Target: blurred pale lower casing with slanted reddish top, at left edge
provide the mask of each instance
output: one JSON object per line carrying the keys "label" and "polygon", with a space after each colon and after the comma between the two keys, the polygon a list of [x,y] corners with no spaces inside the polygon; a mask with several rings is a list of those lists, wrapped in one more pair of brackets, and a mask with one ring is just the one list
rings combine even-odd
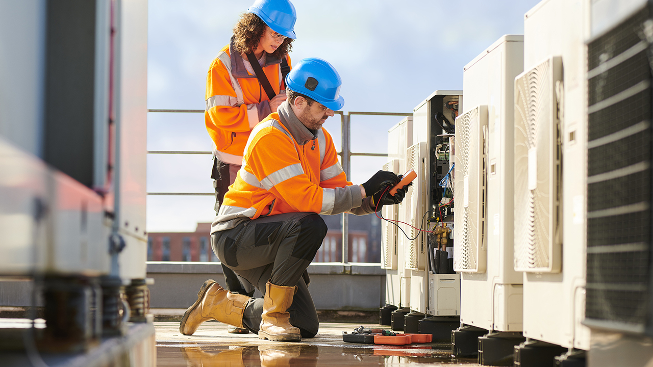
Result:
{"label": "blurred pale lower casing with slanted reddish top, at left edge", "polygon": [[2,137],[0,171],[3,274],[108,271],[108,231],[97,193]]}

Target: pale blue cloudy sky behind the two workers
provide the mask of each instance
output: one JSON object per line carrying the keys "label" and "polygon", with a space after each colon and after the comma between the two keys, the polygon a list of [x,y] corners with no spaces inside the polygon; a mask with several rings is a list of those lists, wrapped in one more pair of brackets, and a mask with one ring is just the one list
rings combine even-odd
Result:
{"label": "pale blue cloudy sky behind the two workers", "polygon": [[[148,108],[203,109],[208,67],[253,0],[149,0]],[[522,34],[536,0],[295,0],[291,59],[321,57],[343,80],[343,111],[412,112],[436,89],[462,89],[462,67],[505,34]],[[352,118],[354,152],[387,151],[401,118]],[[340,119],[325,127],[340,139]],[[202,114],[148,114],[148,150],[210,150]],[[340,150],[339,142],[336,148]],[[385,158],[358,158],[362,183]],[[210,192],[208,155],[150,155],[148,191]],[[148,231],[194,231],[212,197],[148,197]]]}

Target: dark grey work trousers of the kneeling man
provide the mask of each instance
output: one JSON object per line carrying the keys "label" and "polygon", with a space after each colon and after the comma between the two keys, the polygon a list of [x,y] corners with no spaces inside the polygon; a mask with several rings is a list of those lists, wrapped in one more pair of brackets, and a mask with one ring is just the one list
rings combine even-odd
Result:
{"label": "dark grey work trousers of the kneeling man", "polygon": [[[232,229],[215,232],[211,246],[218,259],[265,295],[268,281],[283,287],[297,286],[288,308],[290,323],[302,338],[317,334],[319,319],[304,274],[327,236],[327,225],[315,213],[287,213],[244,221]],[[307,274],[308,275],[308,274]],[[263,299],[247,303],[243,323],[259,332]]]}

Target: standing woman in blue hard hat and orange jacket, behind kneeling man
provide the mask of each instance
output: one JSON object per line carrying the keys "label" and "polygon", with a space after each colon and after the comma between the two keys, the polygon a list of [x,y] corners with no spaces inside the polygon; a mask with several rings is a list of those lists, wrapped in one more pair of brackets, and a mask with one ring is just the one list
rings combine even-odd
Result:
{"label": "standing woman in blue hard hat and orange jacket, behind kneeling man", "polygon": [[[251,129],[276,112],[286,100],[288,53],[295,40],[296,12],[288,0],[256,0],[234,26],[229,44],[220,50],[206,76],[204,122],[214,143],[211,178],[215,212],[236,180]],[[253,286],[241,283],[223,266],[227,289],[251,296]],[[247,332],[230,328],[229,332]]]}

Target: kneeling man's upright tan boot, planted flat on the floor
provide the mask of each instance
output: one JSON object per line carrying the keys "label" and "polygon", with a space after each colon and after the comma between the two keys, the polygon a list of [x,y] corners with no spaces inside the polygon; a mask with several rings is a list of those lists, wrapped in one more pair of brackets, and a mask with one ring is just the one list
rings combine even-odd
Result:
{"label": "kneeling man's upright tan boot, planted flat on the floor", "polygon": [[268,281],[265,289],[259,339],[300,342],[302,334],[298,328],[290,325],[290,313],[286,311],[293,304],[297,287],[281,287]]}

